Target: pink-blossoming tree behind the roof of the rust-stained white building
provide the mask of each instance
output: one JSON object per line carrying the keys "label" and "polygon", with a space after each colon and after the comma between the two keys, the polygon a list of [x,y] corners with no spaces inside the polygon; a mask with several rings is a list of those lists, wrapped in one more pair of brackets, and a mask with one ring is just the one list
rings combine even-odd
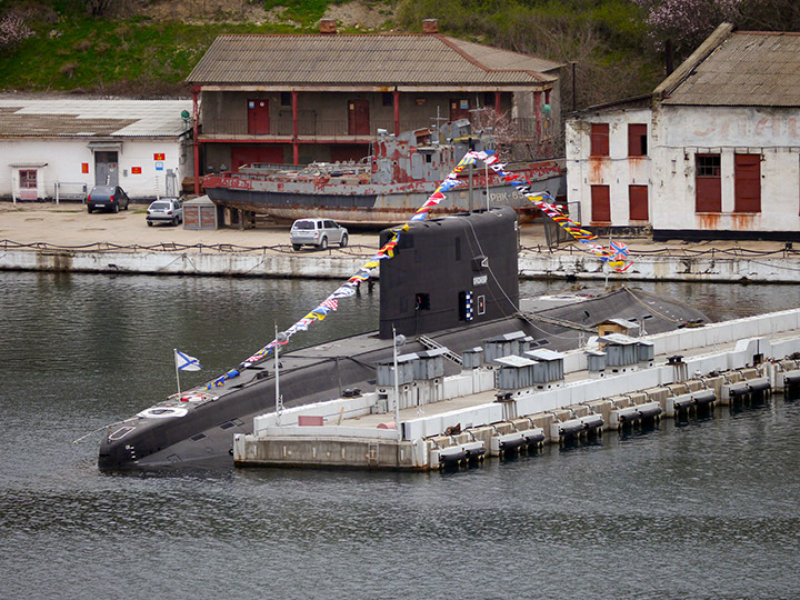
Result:
{"label": "pink-blossoming tree behind the roof of the rust-stained white building", "polygon": [[650,38],[663,50],[667,71],[673,56],[691,53],[723,21],[738,22],[746,0],[633,0],[647,11]]}

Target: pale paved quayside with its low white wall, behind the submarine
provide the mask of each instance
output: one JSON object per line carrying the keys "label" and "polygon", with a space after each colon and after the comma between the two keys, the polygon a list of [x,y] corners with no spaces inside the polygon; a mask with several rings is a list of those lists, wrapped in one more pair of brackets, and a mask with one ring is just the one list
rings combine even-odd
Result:
{"label": "pale paved quayside with its low white wall, behind the submarine", "polygon": [[[350,277],[378,249],[376,232],[350,246],[294,252],[287,227],[213,231],[147,227],[144,209],[87,214],[80,204],[0,203],[0,270],[237,277]],[[626,240],[633,264],[609,272],[579,242],[548,248],[541,224],[522,226],[520,277],[728,282],[800,281],[800,251],[782,242],[656,243]]]}

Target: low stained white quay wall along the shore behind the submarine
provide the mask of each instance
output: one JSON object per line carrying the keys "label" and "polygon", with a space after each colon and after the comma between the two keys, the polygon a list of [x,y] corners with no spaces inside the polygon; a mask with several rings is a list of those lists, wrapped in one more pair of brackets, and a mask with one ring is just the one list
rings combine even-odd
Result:
{"label": "low stained white quay wall along the shore behind the submarine", "polygon": [[[293,254],[267,250],[227,253],[6,248],[0,249],[0,270],[347,279],[369,258],[332,251]],[[634,257],[624,273],[616,273],[586,253],[522,251],[519,256],[523,279],[797,283],[798,271],[800,260],[788,257]]]}

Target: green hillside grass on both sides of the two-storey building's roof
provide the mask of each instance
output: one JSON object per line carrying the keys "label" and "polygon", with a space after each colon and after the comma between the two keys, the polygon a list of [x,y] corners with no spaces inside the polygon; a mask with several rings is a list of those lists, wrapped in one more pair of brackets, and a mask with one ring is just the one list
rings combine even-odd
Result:
{"label": "green hillside grass on both sides of the two-storey building's roof", "polygon": [[[283,8],[280,23],[264,26],[92,18],[81,0],[42,2],[41,10],[26,12],[36,36],[12,52],[0,49],[0,90],[186,96],[186,78],[217,36],[313,33],[326,9],[341,1],[253,0],[266,9]],[[640,93],[652,89],[660,77],[658,57],[646,52],[642,14],[631,0],[391,2],[381,7],[391,9],[387,19],[398,30],[420,31],[423,18],[438,18],[442,33],[560,62],[580,60],[581,68],[597,73],[593,77],[601,83],[609,78],[604,69],[624,81],[616,90],[597,87],[597,97],[587,96],[586,103]],[[26,6],[26,0],[0,0],[0,14]],[[341,24],[339,29],[353,31]]]}

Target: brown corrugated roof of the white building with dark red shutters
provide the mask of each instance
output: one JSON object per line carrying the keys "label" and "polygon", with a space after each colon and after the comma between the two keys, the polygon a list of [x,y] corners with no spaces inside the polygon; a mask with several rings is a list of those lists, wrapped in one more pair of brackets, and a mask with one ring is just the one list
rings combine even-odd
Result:
{"label": "brown corrugated roof of the white building with dark red shutters", "polygon": [[663,103],[800,107],[800,34],[734,31]]}

